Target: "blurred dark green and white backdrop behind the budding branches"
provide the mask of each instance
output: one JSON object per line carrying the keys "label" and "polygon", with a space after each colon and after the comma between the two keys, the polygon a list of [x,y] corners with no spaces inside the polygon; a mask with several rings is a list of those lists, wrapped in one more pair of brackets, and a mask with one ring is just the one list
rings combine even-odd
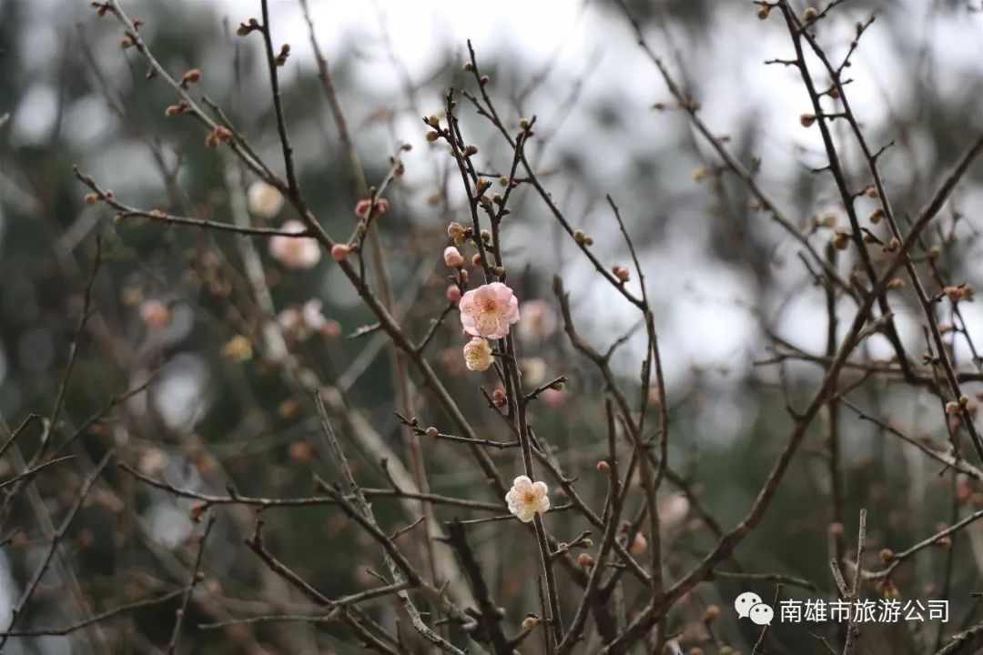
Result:
{"label": "blurred dark green and white backdrop behind the budding branches", "polygon": [[[616,7],[571,1],[531,8],[509,2],[489,17],[439,3],[419,3],[412,12],[402,3],[385,1],[313,4],[318,33],[326,29],[322,41],[369,180],[384,177],[388,157],[401,142],[413,146],[403,155],[406,174],[386,194],[392,206],[379,222],[409,333],[423,335],[444,305],[444,229],[464,215],[453,162],[444,146],[425,140],[420,118],[440,111],[449,85],[468,86],[461,63],[465,39],[471,37],[492,76],[492,95],[508,108],[505,120],[517,124],[520,117],[537,115],[532,159],[567,216],[594,236],[599,256],[611,263],[625,263],[627,252],[605,194],[621,206],[658,307],[672,465],[724,527],[741,519],[791,425],[777,367],[755,362],[771,356],[770,334],[822,355],[827,329],[823,290],[812,284],[798,259],[801,246],[749,204],[750,196],[737,181],[714,175],[717,160],[698,142],[685,115],[672,108]],[[765,59],[788,56],[790,45],[775,25],[779,22],[759,22],[750,3],[628,4],[670,68],[700,99],[704,119],[728,136],[728,146],[741,161],[760,161],[760,183],[824,250],[833,232],[810,226],[818,217],[837,214],[838,196],[828,176],[809,170],[824,165],[825,154],[818,137],[798,125],[799,114],[809,106],[797,74],[763,65]],[[172,75],[200,68],[204,92],[280,170],[259,37],[234,33],[239,23],[258,15],[258,3],[188,0],[125,6],[145,21],[142,34]],[[295,3],[271,6],[278,40],[292,45],[283,69],[283,99],[301,187],[324,228],[345,235],[355,226],[358,198],[305,28]],[[978,111],[983,74],[977,65],[983,26],[971,9],[956,0],[849,2],[822,30],[824,42],[841,56],[854,23],[878,12],[875,27],[861,41],[847,88],[856,93],[871,142],[879,147],[895,141],[883,164],[901,216],[917,211],[968,136],[983,127]],[[419,23],[402,22],[414,12]],[[342,18],[334,21],[336,16]],[[429,40],[429,31],[414,33],[420,25],[429,25],[439,38]],[[221,152],[205,147],[199,125],[185,117],[165,118],[164,108],[175,101],[173,91],[145,79],[144,61],[133,50],[121,51],[121,37],[118,25],[98,21],[81,0],[0,0],[0,115],[10,113],[0,128],[0,416],[13,427],[27,413],[46,414],[52,407],[70,357],[96,235],[102,236],[104,261],[95,279],[95,313],[79,345],[57,433],[71,435],[114,396],[152,380],[145,394],[87,429],[77,462],[37,479],[37,498],[45,499],[40,506],[22,498],[5,519],[5,532],[15,525],[23,532],[4,547],[0,624],[6,624],[36,564],[43,542],[38,511],[62,516],[90,469],[87,459],[97,460],[110,444],[123,461],[178,486],[221,494],[228,484],[247,495],[310,495],[312,470],[335,477],[320,450],[313,406],[297,384],[298,376],[313,372],[336,395],[335,408],[358,412],[409,467],[407,434],[392,413],[396,405],[385,340],[378,332],[352,337],[371,326],[373,318],[328,257],[310,271],[291,271],[273,260],[261,241],[252,242],[277,310],[317,299],[324,315],[340,327],[337,337],[316,335],[291,343],[296,366],[284,366],[262,352],[261,311],[244,263],[248,247],[238,237],[137,220],[116,225],[107,208],[82,202],[86,190],[75,179],[73,164],[128,204],[226,222],[234,220],[230,194],[241,194],[252,182]],[[419,42],[420,48],[400,49],[407,41]],[[665,108],[653,108],[654,103]],[[466,135],[479,144],[490,171],[502,171],[510,161],[507,144],[463,99],[458,109]],[[861,180],[855,148],[845,131],[838,137],[847,169]],[[976,239],[980,220],[974,213],[980,177],[979,172],[969,176],[931,235],[931,243],[944,249],[950,284],[978,283],[983,276]],[[560,239],[542,201],[520,191],[517,202],[505,230],[506,260],[515,271],[511,279],[524,306],[543,299],[541,311],[548,315],[539,332],[520,332],[521,354],[533,359],[523,365],[531,377],[545,368],[544,380],[560,374],[570,380],[561,394],[536,407],[535,424],[557,449],[565,470],[579,478],[581,493],[600,503],[605,482],[595,464],[606,449],[604,384],[561,330],[548,329],[549,315],[555,318],[557,310],[550,277],[564,277],[578,327],[598,348],[629,335],[614,362],[631,388],[643,335],[625,303],[613,298],[572,245]],[[284,209],[268,223],[277,226],[289,214]],[[838,262],[843,272],[851,264],[848,256]],[[142,317],[141,307],[150,300],[167,306],[165,325],[147,325]],[[920,354],[923,319],[917,300],[904,290],[892,300],[908,352]],[[852,307],[840,305],[840,320],[846,323]],[[525,322],[531,314],[523,311]],[[973,304],[964,311],[968,330],[978,334],[983,313]],[[429,351],[434,365],[451,381],[455,400],[479,435],[506,440],[500,419],[477,389],[481,384],[491,392],[496,380],[464,370],[456,321],[455,311],[438,330]],[[252,356],[228,356],[226,347],[237,335],[253,342]],[[861,356],[874,359],[890,355],[882,337],[869,340],[864,350]],[[960,364],[973,366],[964,343],[956,340],[954,354]],[[792,402],[801,403],[822,368],[790,361],[785,372]],[[844,373],[843,384],[855,375]],[[443,428],[427,390],[418,391],[421,423]],[[948,438],[938,399],[924,390],[872,380],[851,399],[910,434],[940,444]],[[338,419],[360,481],[385,486],[382,465],[372,453],[360,452],[359,440],[351,438],[362,428],[342,415]],[[936,531],[938,523],[978,509],[974,503],[983,496],[975,484],[938,474],[936,464],[848,409],[841,408],[838,421],[845,524],[831,527],[825,451],[830,426],[824,415],[761,528],[738,551],[745,571],[804,577],[829,595],[836,535],[845,530],[847,548],[852,547],[860,508],[870,513],[868,549],[873,553],[883,547],[901,550]],[[19,444],[25,458],[39,432]],[[463,453],[431,443],[425,449],[434,491],[488,500],[486,485]],[[492,452],[492,457],[505,477],[518,470],[514,452]],[[12,456],[0,466],[6,476],[19,464]],[[79,594],[98,611],[184,583],[182,573],[194,552],[188,543],[191,503],[175,501],[118,470],[110,470],[96,488],[101,491],[74,521],[64,546],[65,562],[78,577],[78,593],[65,596],[59,591],[63,572],[51,573],[48,593],[38,593],[32,602],[28,625],[71,622],[78,616]],[[673,498],[678,499],[667,496],[666,502]],[[632,502],[641,507],[640,497]],[[397,503],[375,505],[390,529],[409,522]],[[194,628],[223,613],[247,614],[260,599],[274,598],[281,608],[300,602],[242,547],[253,513],[228,508],[219,514],[203,567],[210,600],[193,603],[186,622],[188,641],[194,644],[190,650],[357,652],[345,645],[350,640],[344,628],[334,626],[317,631],[289,625]],[[451,519],[457,513],[440,509],[437,514]],[[688,571],[715,543],[688,503],[678,514],[667,527],[664,546],[672,576]],[[337,511],[277,510],[263,519],[270,548],[326,595],[373,583],[365,569],[379,570],[377,549]],[[572,537],[583,528],[563,521],[556,515],[550,529]],[[532,543],[509,523],[479,525],[470,534],[488,566],[496,598],[517,623],[537,606],[535,589],[524,584],[536,574]],[[969,592],[978,588],[981,566],[983,532],[969,530],[954,539],[951,550],[921,554],[895,579],[902,598],[951,601],[952,623],[941,628],[948,634],[976,616]],[[944,579],[950,580],[946,588]],[[698,631],[693,624],[699,623],[703,607],[720,604],[727,613],[715,627],[717,636],[749,652],[756,632],[734,621],[726,609],[744,588],[730,581],[702,585],[680,603],[670,627]],[[768,585],[752,588],[763,597],[774,591]],[[160,646],[169,637],[172,609],[135,613],[132,623],[123,622],[119,631],[102,637],[84,631],[71,639],[15,640],[8,647],[12,653],[98,652],[102,638],[116,644],[112,652],[151,652],[151,643]],[[372,611],[393,612],[383,606]],[[774,628],[774,652],[786,653],[821,652],[807,629],[836,633],[830,627]],[[870,652],[928,652],[940,630],[937,624],[920,632],[909,628],[886,629]]]}

